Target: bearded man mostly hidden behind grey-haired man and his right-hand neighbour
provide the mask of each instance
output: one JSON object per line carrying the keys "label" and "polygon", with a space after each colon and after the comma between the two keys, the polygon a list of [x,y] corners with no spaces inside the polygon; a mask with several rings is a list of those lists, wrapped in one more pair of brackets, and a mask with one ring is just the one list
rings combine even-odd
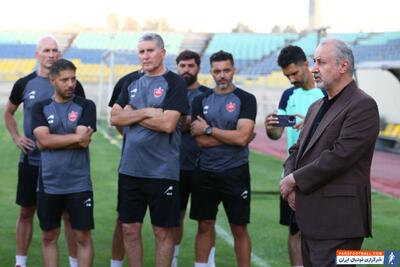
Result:
{"label": "bearded man mostly hidden behind grey-haired man and his right-hand neighbour", "polygon": [[[188,88],[188,101],[191,109],[193,99],[196,96],[203,94],[209,90],[208,87],[200,85],[197,81],[197,75],[200,71],[200,56],[196,52],[185,50],[181,52],[176,58],[176,65],[178,74],[185,80]],[[190,122],[191,116],[185,116],[182,127],[182,142],[180,147],[180,178],[179,178],[179,192],[180,192],[180,218],[179,226],[174,229],[174,258],[172,266],[178,266],[178,255],[180,243],[183,237],[183,220],[185,218],[185,212],[189,195],[192,192],[192,176],[193,170],[197,165],[198,156],[200,149],[196,144],[196,141],[190,134]],[[208,257],[209,266],[215,266],[214,254],[215,254],[215,231],[213,238],[213,247]]]}

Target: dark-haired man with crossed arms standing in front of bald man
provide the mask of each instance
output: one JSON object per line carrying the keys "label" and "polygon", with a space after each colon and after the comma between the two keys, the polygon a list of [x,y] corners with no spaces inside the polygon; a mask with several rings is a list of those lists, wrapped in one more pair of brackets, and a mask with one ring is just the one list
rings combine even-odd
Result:
{"label": "dark-haired man with crossed arms standing in front of bald man", "polygon": [[54,97],[34,105],[32,129],[42,150],[38,179],[38,217],[45,266],[58,266],[61,216],[69,214],[77,243],[78,266],[93,264],[94,228],[89,143],[96,130],[96,106],[76,96],[76,67],[66,59],[50,68]]}

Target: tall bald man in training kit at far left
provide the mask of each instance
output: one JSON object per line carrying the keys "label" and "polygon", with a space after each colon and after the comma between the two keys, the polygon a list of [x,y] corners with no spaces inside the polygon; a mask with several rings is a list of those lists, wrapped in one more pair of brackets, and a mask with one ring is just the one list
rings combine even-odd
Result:
{"label": "tall bald man in training kit at far left", "polygon": [[[12,88],[9,101],[4,111],[4,122],[8,131],[21,150],[18,165],[18,186],[16,203],[21,207],[16,226],[16,266],[25,267],[33,233],[33,217],[36,210],[36,185],[39,171],[40,151],[35,145],[32,134],[32,108],[39,101],[54,95],[54,88],[49,80],[50,67],[61,57],[57,40],[45,36],[38,41],[35,57],[38,69],[17,80]],[[82,85],[77,81],[75,94],[85,97]],[[24,135],[18,132],[15,112],[19,105],[24,105]],[[65,236],[68,241],[71,267],[77,267],[76,245],[71,232],[68,214],[64,213]]]}

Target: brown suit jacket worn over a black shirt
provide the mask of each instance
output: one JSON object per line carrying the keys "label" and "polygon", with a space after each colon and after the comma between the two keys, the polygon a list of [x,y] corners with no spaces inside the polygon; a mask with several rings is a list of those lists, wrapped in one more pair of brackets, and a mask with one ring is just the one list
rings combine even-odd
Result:
{"label": "brown suit jacket worn over a black shirt", "polygon": [[296,221],[310,238],[371,236],[370,169],[378,108],[354,81],[343,90],[303,148],[323,100],[310,107],[285,162],[285,175],[293,172],[297,184]]}

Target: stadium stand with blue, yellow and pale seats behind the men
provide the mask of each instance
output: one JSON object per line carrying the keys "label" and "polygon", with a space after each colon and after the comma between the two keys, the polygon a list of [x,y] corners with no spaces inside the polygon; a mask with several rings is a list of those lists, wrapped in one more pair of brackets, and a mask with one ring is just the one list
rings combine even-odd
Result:
{"label": "stadium stand with blue, yellow and pale seats behind the men", "polygon": [[[34,51],[37,40],[48,34],[51,33],[0,31],[0,79],[15,81],[30,73],[35,68]],[[84,83],[112,83],[112,80],[140,68],[135,51],[142,32],[83,31],[54,34],[60,41],[64,57],[73,60],[78,66],[79,79]],[[231,52],[235,58],[235,83],[249,89],[287,86],[287,80],[276,64],[280,49],[288,44],[299,45],[312,62],[311,57],[318,42],[316,32],[160,34],[164,37],[167,49],[167,68],[175,70],[175,58],[180,51],[198,51],[203,62],[199,79],[203,84],[213,86],[209,75],[209,56],[223,49]],[[375,66],[376,63],[379,66],[382,62],[400,62],[400,32],[329,33],[323,38],[339,38],[348,42],[353,47],[358,66],[364,63],[368,66]],[[397,65],[393,63],[390,66]],[[391,72],[395,73],[393,70]]]}

